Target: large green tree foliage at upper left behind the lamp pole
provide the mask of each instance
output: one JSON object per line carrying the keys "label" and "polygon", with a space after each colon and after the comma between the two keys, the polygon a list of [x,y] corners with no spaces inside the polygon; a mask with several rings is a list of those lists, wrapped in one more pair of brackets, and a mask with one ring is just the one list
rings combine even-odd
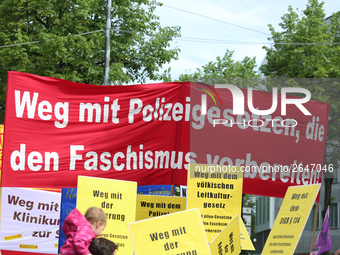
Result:
{"label": "large green tree foliage at upper left behind the lamp pole", "polygon": [[[43,42],[0,48],[0,122],[7,71],[103,84],[106,4],[106,0],[1,1],[0,46]],[[179,49],[168,46],[180,35],[179,27],[160,26],[153,14],[160,5],[155,0],[112,1],[109,76],[114,84],[157,79],[159,68],[177,59]]]}

